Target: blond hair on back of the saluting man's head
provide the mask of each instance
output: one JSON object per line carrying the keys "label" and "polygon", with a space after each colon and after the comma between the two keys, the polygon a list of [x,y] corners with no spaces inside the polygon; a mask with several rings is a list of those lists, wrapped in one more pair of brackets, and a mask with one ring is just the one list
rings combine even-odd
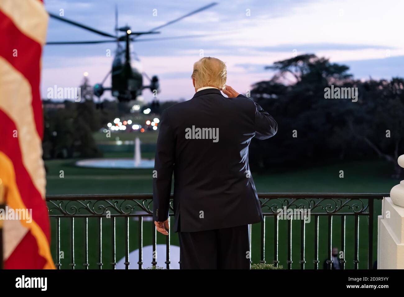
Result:
{"label": "blond hair on back of the saluting man's head", "polygon": [[204,57],[194,63],[194,72],[191,78],[195,80],[195,88],[214,86],[222,90],[227,80],[226,64],[212,57]]}

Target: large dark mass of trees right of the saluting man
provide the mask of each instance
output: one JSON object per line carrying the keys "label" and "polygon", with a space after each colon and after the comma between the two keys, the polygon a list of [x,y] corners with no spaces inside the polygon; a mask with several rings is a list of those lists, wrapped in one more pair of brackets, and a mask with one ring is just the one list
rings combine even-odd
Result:
{"label": "large dark mass of trees right of the saluting man", "polygon": [[[253,168],[379,156],[393,164],[395,176],[403,173],[397,164],[404,137],[402,78],[354,80],[346,65],[311,54],[266,69],[276,72],[254,84],[251,96],[274,116],[279,130],[271,141],[252,140]],[[324,89],[331,85],[357,88],[358,101],[327,99]]]}

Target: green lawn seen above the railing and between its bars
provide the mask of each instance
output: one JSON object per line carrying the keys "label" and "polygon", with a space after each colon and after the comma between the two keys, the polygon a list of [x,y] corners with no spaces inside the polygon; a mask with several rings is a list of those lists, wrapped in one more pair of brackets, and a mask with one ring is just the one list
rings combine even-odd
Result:
{"label": "green lawn seen above the railing and between its bars", "polygon": [[[152,153],[148,153],[152,156]],[[129,152],[106,153],[106,157],[132,157]],[[149,157],[148,156],[148,157]],[[143,157],[143,154],[142,154]],[[130,193],[151,193],[152,192],[152,169],[89,169],[74,166],[76,160],[50,160],[46,161],[48,169],[47,174],[47,194],[130,194]],[[344,178],[339,178],[339,171],[344,171]],[[60,178],[60,171],[63,171],[64,177]],[[383,161],[361,161],[344,162],[328,166],[319,166],[309,169],[293,170],[282,173],[254,174],[253,177],[258,192],[352,192],[352,193],[371,193],[371,192],[389,192],[398,180],[391,179],[391,168],[389,164]],[[375,215],[381,211],[381,203],[375,204]],[[173,221],[172,221],[173,223]],[[61,219],[61,250],[64,252],[64,259],[61,260],[61,268],[70,268],[70,219]],[[98,268],[96,263],[98,257],[98,221],[97,219],[88,220],[88,250],[90,269]],[[346,219],[346,268],[353,268],[353,217]],[[360,248],[359,248],[359,268],[367,266],[367,218],[360,217]],[[322,268],[322,261],[327,257],[327,236],[328,221],[326,217],[320,217],[319,230],[319,267]],[[274,219],[266,219],[266,240],[265,240],[265,259],[271,263],[274,254]],[[55,219],[51,219],[52,244],[51,250],[55,257]],[[313,268],[314,264],[314,220],[305,224],[305,242],[306,242],[306,268]],[[138,248],[138,222],[129,220],[129,251]],[[151,244],[151,232],[153,225],[151,222],[143,223],[143,246]],[[341,247],[341,219],[339,216],[333,217],[332,221],[332,242],[333,246]],[[377,238],[377,224],[374,225],[374,238]],[[103,268],[110,268],[112,260],[111,251],[111,220],[102,219],[103,231]],[[252,262],[258,263],[260,259],[260,225],[255,224],[252,227]],[[83,268],[81,265],[85,262],[84,251],[84,219],[75,219],[75,262],[78,263],[76,269]],[[300,268],[300,222],[292,222],[292,268]],[[157,243],[164,244],[165,237],[161,234],[157,236]],[[171,244],[179,245],[177,234],[172,234]],[[116,260],[118,261],[125,255],[124,242],[124,219],[116,219]],[[374,259],[377,255],[377,246],[374,244]],[[279,223],[279,241],[278,258],[280,264],[287,268],[287,221]],[[144,255],[143,262],[150,263],[151,256],[147,258]],[[165,257],[158,259],[160,266],[164,266]],[[131,265],[136,265],[132,263]]]}

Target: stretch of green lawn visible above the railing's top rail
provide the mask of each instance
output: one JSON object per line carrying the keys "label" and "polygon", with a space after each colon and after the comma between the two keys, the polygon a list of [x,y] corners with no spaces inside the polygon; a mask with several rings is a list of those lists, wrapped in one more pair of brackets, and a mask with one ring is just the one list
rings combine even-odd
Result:
{"label": "stretch of green lawn visible above the railing's top rail", "polygon": [[[117,154],[106,154],[117,157]],[[142,154],[143,156],[143,154]],[[118,157],[130,157],[127,153]],[[152,192],[152,169],[92,169],[75,166],[77,159],[45,161],[47,194],[130,194]],[[339,171],[344,178],[339,178]],[[60,178],[63,171],[64,178]],[[258,192],[390,192],[398,180],[391,179],[389,164],[362,161],[320,166],[306,170],[253,174]]]}

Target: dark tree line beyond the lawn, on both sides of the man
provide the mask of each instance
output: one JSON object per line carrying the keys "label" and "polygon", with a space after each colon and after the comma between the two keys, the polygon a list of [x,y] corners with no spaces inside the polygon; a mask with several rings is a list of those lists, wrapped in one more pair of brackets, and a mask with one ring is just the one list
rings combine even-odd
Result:
{"label": "dark tree line beyond the lawn, on both sides of the man", "polygon": [[[394,177],[403,175],[397,164],[404,149],[403,78],[358,80],[348,66],[311,54],[266,69],[274,72],[272,78],[255,83],[248,95],[274,116],[278,133],[265,141],[252,139],[252,170],[381,158],[391,164]],[[87,82],[81,87],[82,102],[65,101],[64,108],[44,111],[45,159],[102,156],[93,133],[127,114],[128,106],[114,101],[97,108]],[[158,113],[175,103],[144,108]]]}

